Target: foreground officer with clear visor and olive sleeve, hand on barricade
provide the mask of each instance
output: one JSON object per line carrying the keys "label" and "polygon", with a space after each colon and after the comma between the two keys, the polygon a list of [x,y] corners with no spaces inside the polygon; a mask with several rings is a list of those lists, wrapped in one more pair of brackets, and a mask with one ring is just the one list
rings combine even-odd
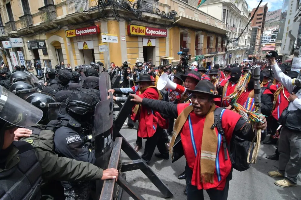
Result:
{"label": "foreground officer with clear visor and olive sleeve, hand on barricade", "polygon": [[14,141],[16,128],[34,126],[42,119],[43,112],[2,86],[0,94],[1,199],[39,200],[42,179],[79,182],[117,177],[117,169],[103,171],[91,163],[58,157],[35,144]]}

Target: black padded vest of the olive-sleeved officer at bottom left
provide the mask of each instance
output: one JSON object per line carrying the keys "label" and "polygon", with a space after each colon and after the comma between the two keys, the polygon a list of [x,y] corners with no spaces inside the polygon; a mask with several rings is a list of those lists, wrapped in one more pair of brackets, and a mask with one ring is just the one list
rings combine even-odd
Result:
{"label": "black padded vest of the olive-sleeved officer at bottom left", "polygon": [[42,168],[31,144],[14,142],[19,149],[19,162],[11,169],[0,173],[0,198],[2,200],[38,200]]}

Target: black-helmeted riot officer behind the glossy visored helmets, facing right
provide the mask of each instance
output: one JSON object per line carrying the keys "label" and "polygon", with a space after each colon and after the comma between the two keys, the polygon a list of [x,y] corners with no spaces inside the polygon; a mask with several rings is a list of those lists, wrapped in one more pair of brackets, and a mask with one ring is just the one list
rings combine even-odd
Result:
{"label": "black-helmeted riot officer behind the glossy visored helmets, facing right", "polygon": [[72,80],[73,74],[68,70],[61,70],[51,82],[49,82],[47,87],[43,88],[43,92],[55,95],[60,90],[67,90],[68,83]]}

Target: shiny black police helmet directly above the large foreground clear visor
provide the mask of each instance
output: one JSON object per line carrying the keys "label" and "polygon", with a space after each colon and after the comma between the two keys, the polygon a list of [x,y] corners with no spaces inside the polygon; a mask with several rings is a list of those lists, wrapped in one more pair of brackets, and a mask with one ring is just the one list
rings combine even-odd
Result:
{"label": "shiny black police helmet directly above the large foreground clear visor", "polygon": [[9,87],[9,91],[26,100],[29,95],[38,92],[39,88],[28,82],[17,81]]}

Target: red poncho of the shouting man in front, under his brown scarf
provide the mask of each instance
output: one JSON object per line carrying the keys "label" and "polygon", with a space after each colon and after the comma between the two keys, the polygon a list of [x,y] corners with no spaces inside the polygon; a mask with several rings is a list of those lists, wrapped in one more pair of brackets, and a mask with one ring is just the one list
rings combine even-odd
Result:
{"label": "red poncho of the shouting man in front, under his brown scarf", "polygon": [[[188,107],[188,103],[180,103],[178,104],[178,115],[186,108]],[[239,118],[241,116],[238,113],[235,113],[231,110],[225,110],[224,114],[222,116],[222,128],[225,131],[225,137],[226,141],[230,142],[232,138],[232,133],[235,128],[236,123],[238,122]],[[190,129],[189,129],[189,122],[188,120],[185,122],[182,130],[181,130],[181,142],[184,150],[184,155],[186,157],[188,166],[193,171],[191,184],[198,187],[198,189],[210,189],[214,188],[217,190],[223,190],[225,188],[226,178],[231,172],[232,164],[231,160],[225,160],[225,154],[223,151],[223,144],[222,141],[220,143],[221,148],[217,152],[218,159],[219,159],[219,171],[220,171],[220,177],[221,180],[218,181],[218,174],[215,168],[214,173],[214,182],[213,183],[201,183],[200,178],[200,169],[197,169],[199,166],[198,162],[200,162],[200,152],[201,152],[201,144],[202,144],[202,135],[203,135],[203,129],[204,129],[204,123],[205,123],[205,116],[196,116],[194,111],[190,113],[191,118],[191,124],[192,124],[192,130],[194,135],[194,141],[195,145],[197,147],[197,157],[194,156],[194,150],[191,143],[191,136],[190,136]],[[217,128],[215,128],[216,134],[218,135]],[[228,153],[229,158],[229,153]]]}

